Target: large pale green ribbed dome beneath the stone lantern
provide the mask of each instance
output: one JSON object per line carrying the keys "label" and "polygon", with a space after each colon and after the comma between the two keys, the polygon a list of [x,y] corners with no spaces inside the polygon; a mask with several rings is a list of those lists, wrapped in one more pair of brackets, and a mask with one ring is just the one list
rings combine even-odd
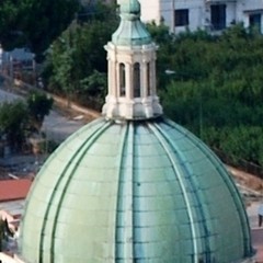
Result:
{"label": "large pale green ribbed dome beneath the stone lantern", "polygon": [[240,262],[251,254],[238,190],[217,157],[165,118],[100,118],[67,139],[27,198],[27,262]]}

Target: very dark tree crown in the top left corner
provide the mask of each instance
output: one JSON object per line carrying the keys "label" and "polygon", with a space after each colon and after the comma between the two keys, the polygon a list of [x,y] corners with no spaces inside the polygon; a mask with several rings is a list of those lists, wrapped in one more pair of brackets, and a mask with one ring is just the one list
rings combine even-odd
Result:
{"label": "very dark tree crown in the top left corner", "polygon": [[79,10],[77,0],[0,1],[0,39],[4,49],[28,46],[42,55]]}

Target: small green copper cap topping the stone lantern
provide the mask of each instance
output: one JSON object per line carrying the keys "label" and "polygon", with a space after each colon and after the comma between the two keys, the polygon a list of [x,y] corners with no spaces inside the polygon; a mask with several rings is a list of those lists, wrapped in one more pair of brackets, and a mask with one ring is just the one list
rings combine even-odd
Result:
{"label": "small green copper cap topping the stone lantern", "polygon": [[121,3],[121,23],[112,36],[112,43],[119,46],[141,46],[151,43],[151,37],[140,21],[138,0],[123,0]]}

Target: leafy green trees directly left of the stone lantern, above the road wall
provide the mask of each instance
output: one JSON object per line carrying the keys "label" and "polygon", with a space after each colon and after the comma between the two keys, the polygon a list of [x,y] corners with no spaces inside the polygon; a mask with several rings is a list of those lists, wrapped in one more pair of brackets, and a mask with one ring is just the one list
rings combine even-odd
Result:
{"label": "leafy green trees directly left of the stone lantern, above the road wall", "polygon": [[104,45],[117,27],[116,16],[111,15],[113,10],[114,7],[99,2],[94,5],[94,16],[71,24],[53,43],[43,73],[48,90],[62,93],[70,100],[80,94],[101,100],[106,89]]}

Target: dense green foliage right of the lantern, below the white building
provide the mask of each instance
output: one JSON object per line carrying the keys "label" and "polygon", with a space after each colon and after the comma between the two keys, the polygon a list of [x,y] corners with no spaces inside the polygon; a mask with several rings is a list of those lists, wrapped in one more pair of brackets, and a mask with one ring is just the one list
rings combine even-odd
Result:
{"label": "dense green foliage right of the lantern, below the white building", "polygon": [[160,50],[174,71],[159,88],[164,112],[232,163],[263,165],[263,36],[237,25],[221,36],[186,32],[171,43]]}

